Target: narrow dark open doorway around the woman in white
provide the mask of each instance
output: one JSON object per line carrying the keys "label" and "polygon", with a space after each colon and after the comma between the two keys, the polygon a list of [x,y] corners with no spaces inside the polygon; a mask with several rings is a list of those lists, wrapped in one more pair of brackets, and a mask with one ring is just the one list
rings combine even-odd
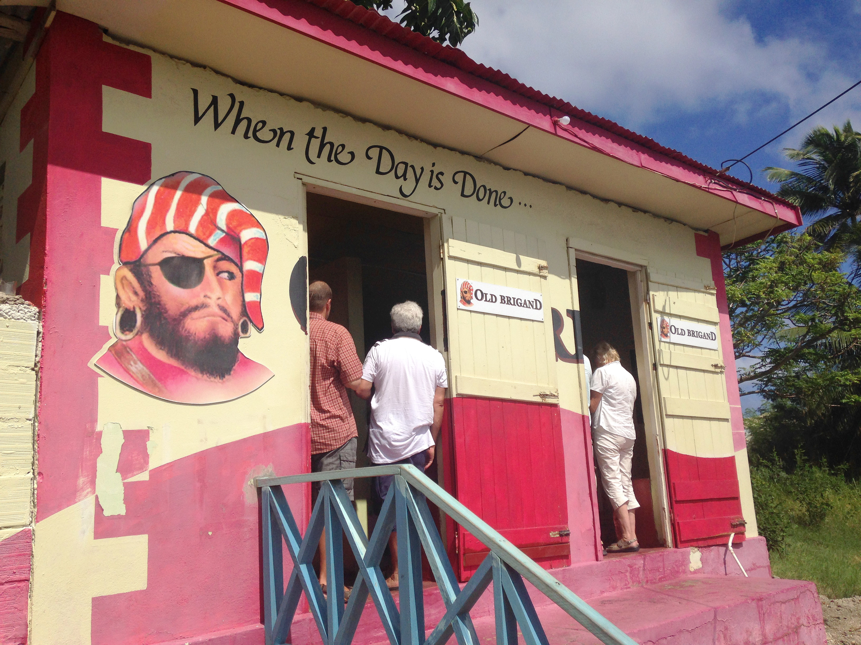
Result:
{"label": "narrow dark open doorway around the woman in white", "polygon": [[[637,399],[634,406],[636,441],[631,464],[631,479],[634,494],[640,503],[636,513],[636,533],[642,548],[663,546],[655,527],[653,496],[647,451],[646,424],[643,419],[641,383],[637,370],[638,361],[646,361],[637,355],[635,347],[634,316],[631,311],[629,271],[610,267],[598,262],[576,258],[577,287],[580,306],[580,333],[585,354],[596,368],[594,349],[600,341],[607,341],[619,353],[622,366],[637,382]],[[596,478],[601,480],[596,469]],[[613,510],[604,486],[598,485],[598,518],[601,541],[606,547],[616,542]],[[619,536],[621,537],[621,535]]]}

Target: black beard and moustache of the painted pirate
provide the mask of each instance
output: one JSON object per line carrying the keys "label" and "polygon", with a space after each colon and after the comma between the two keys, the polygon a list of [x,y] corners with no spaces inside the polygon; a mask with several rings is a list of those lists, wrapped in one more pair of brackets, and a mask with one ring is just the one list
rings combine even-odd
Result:
{"label": "black beard and moustache of the painted pirate", "polygon": [[[183,323],[189,314],[205,308],[189,307],[177,316],[171,317],[164,310],[164,304],[152,288],[142,285],[146,292],[146,309],[143,311],[142,327],[150,338],[168,355],[180,363],[212,378],[225,378],[233,371],[239,354],[239,332],[233,330],[231,338],[223,339],[212,333],[206,338],[198,338],[184,328]],[[226,310],[223,310],[230,316]]]}

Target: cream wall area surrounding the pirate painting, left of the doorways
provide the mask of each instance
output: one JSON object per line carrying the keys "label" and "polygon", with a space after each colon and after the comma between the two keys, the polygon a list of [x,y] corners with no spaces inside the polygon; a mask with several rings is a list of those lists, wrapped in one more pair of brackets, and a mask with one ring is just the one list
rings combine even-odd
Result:
{"label": "cream wall area surrounding the pirate painting, left of the doorways", "polygon": [[[265,328],[259,334],[252,331],[250,338],[240,341],[239,349],[276,376],[249,395],[210,406],[181,406],[146,396],[113,378],[100,379],[97,427],[115,422],[123,428],[152,428],[150,468],[212,445],[307,421],[307,402],[298,396],[283,396],[288,389],[307,389],[307,336],[299,328],[283,288],[295,261],[307,254],[302,232],[304,194],[299,181],[285,178],[287,169],[278,154],[282,150],[218,136],[226,126],[217,136],[201,136],[203,123],[195,128],[190,111],[189,86],[197,85],[203,94],[236,88],[212,72],[153,55],[152,99],[104,87],[102,127],[105,132],[152,144],[153,179],[178,170],[210,175],[263,224],[269,238],[261,290]],[[271,112],[284,102],[277,95],[242,90],[252,95],[238,96],[246,100],[246,114]],[[102,226],[117,231],[117,243],[133,200],[144,188],[102,180]],[[102,276],[99,310],[99,322],[109,330],[115,311],[112,272]],[[113,339],[105,349],[111,342]]]}

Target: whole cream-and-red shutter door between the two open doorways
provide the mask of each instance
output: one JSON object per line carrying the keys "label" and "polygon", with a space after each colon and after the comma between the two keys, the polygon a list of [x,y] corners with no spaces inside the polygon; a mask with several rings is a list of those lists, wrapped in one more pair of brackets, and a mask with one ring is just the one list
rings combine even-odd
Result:
{"label": "whole cream-and-red shutter door between the two open doorways", "polygon": [[[547,254],[535,238],[443,219],[454,492],[548,566],[570,562]],[[542,294],[543,321],[458,309],[457,279]],[[451,470],[449,470],[451,472]],[[456,537],[461,579],[486,548]]]}

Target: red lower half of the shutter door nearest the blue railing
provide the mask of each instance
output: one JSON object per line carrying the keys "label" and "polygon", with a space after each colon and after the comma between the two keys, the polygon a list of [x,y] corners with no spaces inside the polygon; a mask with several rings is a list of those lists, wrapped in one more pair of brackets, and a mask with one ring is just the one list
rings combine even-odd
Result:
{"label": "red lower half of the shutter door nearest the blue railing", "polygon": [[[455,496],[536,561],[569,564],[559,406],[471,396],[450,404]],[[455,539],[466,580],[487,549],[462,529]]]}

